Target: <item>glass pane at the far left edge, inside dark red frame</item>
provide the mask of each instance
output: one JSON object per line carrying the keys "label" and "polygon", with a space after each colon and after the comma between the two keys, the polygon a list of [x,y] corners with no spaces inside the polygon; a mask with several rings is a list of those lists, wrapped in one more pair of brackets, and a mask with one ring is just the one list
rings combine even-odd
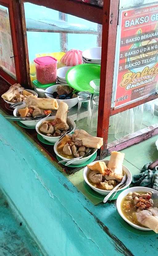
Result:
{"label": "glass pane at the far left edge, inside dark red frame", "polygon": [[0,67],[16,79],[13,56],[8,8],[0,5]]}

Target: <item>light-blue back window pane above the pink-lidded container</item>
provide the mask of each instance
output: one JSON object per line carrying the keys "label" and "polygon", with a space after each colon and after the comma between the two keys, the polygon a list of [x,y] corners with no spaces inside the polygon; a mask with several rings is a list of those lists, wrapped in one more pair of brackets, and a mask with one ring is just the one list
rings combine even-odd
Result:
{"label": "light-blue back window pane above the pink-lidded container", "polygon": [[102,25],[31,3],[24,3],[24,8],[31,81],[36,79],[35,57],[53,56],[60,68],[67,51],[101,46]]}

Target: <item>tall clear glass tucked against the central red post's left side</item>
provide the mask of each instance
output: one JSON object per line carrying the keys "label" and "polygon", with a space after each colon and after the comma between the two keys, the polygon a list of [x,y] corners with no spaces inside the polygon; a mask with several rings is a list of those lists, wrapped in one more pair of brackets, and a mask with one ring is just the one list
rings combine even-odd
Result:
{"label": "tall clear glass tucked against the central red post's left side", "polygon": [[99,96],[94,97],[92,116],[90,120],[90,134],[97,136]]}

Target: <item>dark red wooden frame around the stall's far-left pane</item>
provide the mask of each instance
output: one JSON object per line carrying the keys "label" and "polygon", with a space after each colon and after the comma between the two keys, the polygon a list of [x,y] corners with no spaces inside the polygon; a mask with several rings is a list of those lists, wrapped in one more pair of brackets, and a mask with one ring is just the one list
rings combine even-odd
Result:
{"label": "dark red wooden frame around the stall's far-left pane", "polygon": [[26,61],[25,61],[25,51],[23,47],[23,33],[21,25],[21,15],[19,9],[18,0],[0,0],[0,5],[8,8],[9,20],[10,20],[10,30],[12,37],[14,61],[15,61],[15,71],[16,80],[8,75],[4,70],[0,68],[0,75],[10,84],[14,84],[16,81],[27,86],[27,71],[26,71]]}

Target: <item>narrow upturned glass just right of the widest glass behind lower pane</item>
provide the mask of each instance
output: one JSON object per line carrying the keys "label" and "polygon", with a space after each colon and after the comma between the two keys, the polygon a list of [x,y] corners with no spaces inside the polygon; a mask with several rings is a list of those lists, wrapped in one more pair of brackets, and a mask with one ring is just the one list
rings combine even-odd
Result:
{"label": "narrow upturned glass just right of the widest glass behind lower pane", "polygon": [[143,121],[143,104],[133,108],[135,115],[135,132],[141,130]]}

